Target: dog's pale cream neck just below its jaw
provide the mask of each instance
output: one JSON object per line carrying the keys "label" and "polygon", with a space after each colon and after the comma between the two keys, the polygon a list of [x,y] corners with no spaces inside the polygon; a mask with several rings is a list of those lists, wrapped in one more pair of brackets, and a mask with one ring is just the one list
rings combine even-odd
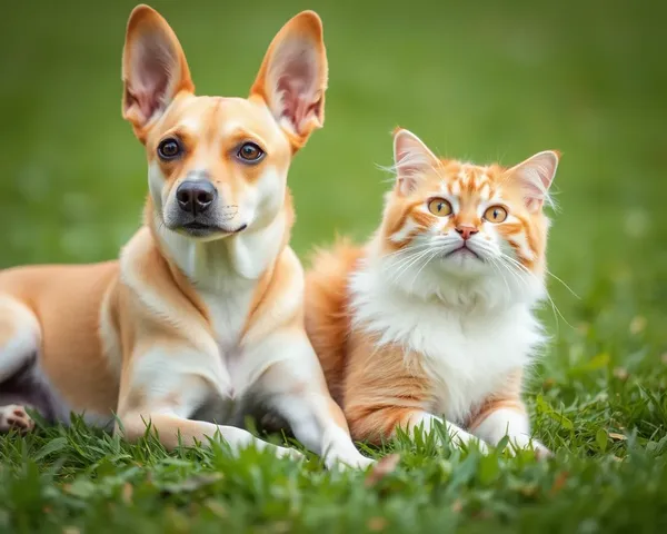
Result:
{"label": "dog's pale cream neck just below its jaw", "polygon": [[272,269],[287,246],[292,226],[289,191],[278,215],[263,226],[215,240],[193,239],[170,230],[155,214],[150,199],[146,205],[146,225],[165,259],[198,289],[227,294],[239,286],[253,286]]}

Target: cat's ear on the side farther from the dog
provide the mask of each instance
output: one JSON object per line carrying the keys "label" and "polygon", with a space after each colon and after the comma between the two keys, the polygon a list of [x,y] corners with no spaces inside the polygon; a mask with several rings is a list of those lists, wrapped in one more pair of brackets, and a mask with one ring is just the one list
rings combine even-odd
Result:
{"label": "cat's ear on the side farther from the dog", "polygon": [[510,178],[519,181],[529,211],[538,211],[545,201],[549,201],[549,188],[556,176],[559,159],[560,152],[545,150],[507,171]]}

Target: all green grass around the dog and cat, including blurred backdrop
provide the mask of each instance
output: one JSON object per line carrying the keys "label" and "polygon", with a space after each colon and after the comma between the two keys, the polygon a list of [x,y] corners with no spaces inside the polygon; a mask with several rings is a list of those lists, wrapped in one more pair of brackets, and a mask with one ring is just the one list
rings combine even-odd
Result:
{"label": "all green grass around the dog and cat, including blurred backdrop", "polygon": [[[88,2],[90,4],[92,2]],[[378,222],[388,132],[442,155],[564,157],[550,236],[563,318],[527,400],[556,458],[405,439],[374,486],[223,447],[165,453],[79,424],[0,437],[0,532],[666,532],[667,67],[658,2],[155,2],[201,93],[245,95],[299,9],[323,18],[327,120],[290,172],[292,244]],[[0,267],[115,257],[145,157],[120,118],[131,2],[13,2],[0,31]],[[374,452],[381,455],[384,451]]]}

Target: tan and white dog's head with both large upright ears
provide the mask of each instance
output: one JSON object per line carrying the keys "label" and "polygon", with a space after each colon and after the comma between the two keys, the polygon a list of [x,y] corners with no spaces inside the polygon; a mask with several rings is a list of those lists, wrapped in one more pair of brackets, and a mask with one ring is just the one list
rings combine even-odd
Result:
{"label": "tan and white dog's head with both large upright ears", "polygon": [[270,222],[292,155],[325,119],[327,57],[312,11],[273,38],[246,98],[198,97],[182,48],[148,6],[130,14],[123,117],[146,146],[156,222],[217,239]]}

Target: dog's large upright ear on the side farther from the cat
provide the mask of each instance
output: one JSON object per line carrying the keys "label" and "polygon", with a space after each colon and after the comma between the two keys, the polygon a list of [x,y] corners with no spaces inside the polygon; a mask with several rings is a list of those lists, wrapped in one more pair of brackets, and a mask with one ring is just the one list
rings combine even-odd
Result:
{"label": "dog's large upright ear on the side farther from the cat", "polygon": [[122,81],[122,116],[141,140],[147,126],[165,112],[180,91],[195,91],[176,33],[148,6],[137,6],[128,20]]}

